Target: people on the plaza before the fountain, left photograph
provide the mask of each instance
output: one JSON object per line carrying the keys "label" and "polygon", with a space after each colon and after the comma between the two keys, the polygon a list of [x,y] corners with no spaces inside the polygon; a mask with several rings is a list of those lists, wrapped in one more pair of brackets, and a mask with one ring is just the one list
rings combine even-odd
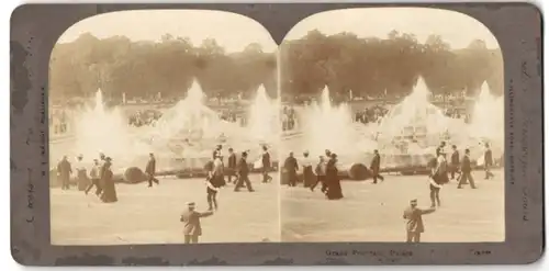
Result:
{"label": "people on the plaza before the fountain, left photograph", "polygon": [[[184,224],[184,242],[198,242],[202,234],[200,218],[214,214],[219,210],[217,193],[221,189],[233,185],[234,192],[239,192],[246,188],[248,192],[255,192],[249,179],[250,167],[248,162],[249,151],[242,151],[239,157],[233,148],[228,148],[227,163],[224,163],[223,146],[217,145],[212,154],[212,158],[206,162],[204,170],[205,178],[205,200],[208,202],[206,212],[195,211],[195,203],[189,202],[187,210],[181,215],[180,221]],[[96,188],[94,194],[104,203],[117,202],[116,188],[112,171],[112,158],[100,154],[99,159],[93,159],[93,165],[87,167],[83,163],[83,156],[79,155],[72,165],[67,156],[58,162],[56,168],[57,178],[63,190],[70,190],[71,179],[76,179],[76,185],[79,191],[88,194]],[[272,177],[269,172],[272,168],[270,153],[267,146],[262,146],[261,157],[254,163],[255,168],[261,171],[261,182],[269,183]],[[149,154],[149,159],[143,171],[148,188],[160,182],[156,178],[156,158]]]}

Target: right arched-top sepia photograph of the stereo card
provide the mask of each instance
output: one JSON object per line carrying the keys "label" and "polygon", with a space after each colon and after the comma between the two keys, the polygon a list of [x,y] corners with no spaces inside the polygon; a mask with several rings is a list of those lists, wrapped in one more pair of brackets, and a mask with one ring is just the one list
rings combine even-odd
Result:
{"label": "right arched-top sepia photograph of the stereo card", "polygon": [[281,241],[505,240],[504,63],[484,24],[322,12],[279,54]]}

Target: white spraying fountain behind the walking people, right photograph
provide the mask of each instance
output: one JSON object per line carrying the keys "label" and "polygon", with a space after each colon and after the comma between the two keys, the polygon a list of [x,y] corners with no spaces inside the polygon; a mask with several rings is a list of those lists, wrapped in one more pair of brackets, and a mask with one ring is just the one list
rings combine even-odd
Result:
{"label": "white spraying fountain behind the walking people, right photograph", "polygon": [[[298,160],[304,161],[299,149],[310,150],[309,160],[316,161],[318,155],[330,149],[339,157],[340,170],[357,180],[368,174],[366,168],[374,149],[378,149],[382,157],[384,171],[404,173],[425,171],[428,160],[435,156],[435,149],[442,140],[447,143],[447,154],[450,153],[449,146],[456,145],[461,151],[469,148],[473,159],[480,157],[480,135],[468,133],[468,126],[462,118],[446,116],[441,109],[429,102],[429,95],[430,91],[425,81],[418,78],[412,93],[392,106],[382,120],[362,125],[351,122],[348,104],[334,106],[329,91],[325,88],[320,103],[299,111],[305,125],[299,136],[292,134],[291,137],[283,137],[283,154],[294,151]],[[503,114],[501,100],[500,104],[482,102],[484,100],[486,99],[481,98],[479,103],[488,104],[485,106],[493,109],[491,112],[500,110],[500,113],[491,113],[492,115]],[[501,135],[501,128],[490,134],[492,138]],[[295,140],[298,137],[301,138]],[[495,149],[492,148],[494,156],[497,156]]]}

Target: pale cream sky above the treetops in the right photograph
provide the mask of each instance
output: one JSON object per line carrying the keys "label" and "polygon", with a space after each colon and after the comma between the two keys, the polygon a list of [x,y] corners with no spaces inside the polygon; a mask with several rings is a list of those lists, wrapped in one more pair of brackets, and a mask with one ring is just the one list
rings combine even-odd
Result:
{"label": "pale cream sky above the treetops in the right photograph", "polygon": [[425,43],[432,34],[438,34],[451,48],[469,46],[472,39],[486,43],[488,48],[500,45],[490,30],[475,19],[456,11],[426,8],[369,8],[327,11],[314,14],[298,23],[285,39],[298,39],[312,30],[332,35],[341,32],[359,37],[386,37],[389,32],[415,34]]}

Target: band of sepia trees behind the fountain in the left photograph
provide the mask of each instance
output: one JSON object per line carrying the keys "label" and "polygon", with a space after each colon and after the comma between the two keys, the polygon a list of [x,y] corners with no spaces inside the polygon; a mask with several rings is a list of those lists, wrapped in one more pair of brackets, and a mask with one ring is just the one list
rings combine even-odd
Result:
{"label": "band of sepia trees behind the fountain in the left photograph", "polygon": [[255,93],[265,84],[277,93],[276,53],[250,44],[225,53],[215,39],[193,46],[189,39],[163,36],[160,42],[133,42],[125,36],[97,38],[87,33],[57,44],[49,63],[54,99],[89,97],[101,88],[111,99],[183,97],[194,78],[209,97]]}

